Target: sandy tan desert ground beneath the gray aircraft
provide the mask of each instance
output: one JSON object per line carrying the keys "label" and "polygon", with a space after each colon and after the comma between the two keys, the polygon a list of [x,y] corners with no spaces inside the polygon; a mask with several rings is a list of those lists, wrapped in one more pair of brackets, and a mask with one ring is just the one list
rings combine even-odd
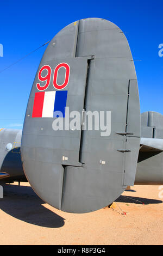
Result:
{"label": "sandy tan desert ground beneath the gray aircraft", "polygon": [[28,182],[5,184],[0,245],[163,245],[159,188],[134,186],[115,209],[69,214],[44,203]]}

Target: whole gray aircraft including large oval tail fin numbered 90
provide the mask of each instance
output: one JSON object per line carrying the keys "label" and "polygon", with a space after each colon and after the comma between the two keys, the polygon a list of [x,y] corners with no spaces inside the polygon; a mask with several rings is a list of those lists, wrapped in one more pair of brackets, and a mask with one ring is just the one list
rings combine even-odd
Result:
{"label": "whole gray aircraft including large oval tail fin numbered 90", "polygon": [[[66,107],[82,117],[109,111],[110,134],[83,125],[54,130],[56,120],[68,127]],[[0,183],[28,180],[62,211],[101,209],[127,186],[163,183],[162,127],[163,115],[140,115],[134,60],[121,29],[104,19],[73,22],[43,54],[23,131],[0,129]]]}

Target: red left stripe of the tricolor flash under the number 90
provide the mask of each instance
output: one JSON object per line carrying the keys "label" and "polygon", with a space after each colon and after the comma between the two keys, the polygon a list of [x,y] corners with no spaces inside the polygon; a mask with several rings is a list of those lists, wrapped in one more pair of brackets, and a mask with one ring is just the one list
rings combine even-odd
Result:
{"label": "red left stripe of the tricolor flash under the number 90", "polygon": [[42,117],[45,92],[35,93],[32,117]]}

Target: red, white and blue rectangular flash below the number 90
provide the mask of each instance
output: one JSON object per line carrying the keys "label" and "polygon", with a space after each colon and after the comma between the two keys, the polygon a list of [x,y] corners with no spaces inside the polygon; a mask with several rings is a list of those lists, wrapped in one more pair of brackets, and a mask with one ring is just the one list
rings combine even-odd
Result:
{"label": "red, white and blue rectangular flash below the number 90", "polygon": [[67,90],[35,93],[33,118],[65,117]]}

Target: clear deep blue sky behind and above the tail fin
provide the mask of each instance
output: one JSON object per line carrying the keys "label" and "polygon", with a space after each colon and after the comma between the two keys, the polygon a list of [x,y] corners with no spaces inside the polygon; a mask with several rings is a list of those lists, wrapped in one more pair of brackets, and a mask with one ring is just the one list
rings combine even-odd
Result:
{"label": "clear deep blue sky behind and above the tail fin", "polygon": [[[0,71],[87,17],[114,22],[126,34],[139,85],[141,113],[163,114],[162,0],[14,1],[0,3]],[[34,77],[46,46],[0,73],[0,127],[21,129]]]}

